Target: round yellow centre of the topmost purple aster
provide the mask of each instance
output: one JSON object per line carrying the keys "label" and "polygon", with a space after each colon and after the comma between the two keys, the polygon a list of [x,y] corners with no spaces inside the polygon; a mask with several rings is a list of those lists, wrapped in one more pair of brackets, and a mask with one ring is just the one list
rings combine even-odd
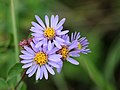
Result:
{"label": "round yellow centre of the topmost purple aster", "polygon": [[55,30],[53,28],[46,28],[46,30],[44,31],[44,36],[47,38],[47,39],[53,39],[54,36],[55,36]]}

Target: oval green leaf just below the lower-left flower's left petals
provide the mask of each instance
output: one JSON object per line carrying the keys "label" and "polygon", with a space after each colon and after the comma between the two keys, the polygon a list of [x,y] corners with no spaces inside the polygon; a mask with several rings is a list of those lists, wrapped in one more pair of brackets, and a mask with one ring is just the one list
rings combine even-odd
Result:
{"label": "oval green leaf just below the lower-left flower's left petals", "polygon": [[8,71],[8,79],[17,76],[18,74],[20,74],[22,72],[22,64],[20,63],[16,63],[15,65],[13,65],[10,70]]}

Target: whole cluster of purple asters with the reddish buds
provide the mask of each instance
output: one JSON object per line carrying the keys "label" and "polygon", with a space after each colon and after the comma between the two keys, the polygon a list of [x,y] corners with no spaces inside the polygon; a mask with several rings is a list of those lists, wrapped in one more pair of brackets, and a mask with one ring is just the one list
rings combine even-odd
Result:
{"label": "whole cluster of purple asters with the reddish buds", "polygon": [[20,55],[22,68],[28,68],[26,74],[31,77],[36,73],[36,80],[48,79],[48,72],[55,74],[61,72],[63,62],[68,61],[74,65],[79,62],[73,57],[79,57],[81,53],[87,54],[88,40],[75,32],[68,36],[69,30],[63,31],[65,18],[59,21],[58,15],[52,15],[49,19],[45,16],[45,24],[39,16],[35,15],[38,23],[32,22],[30,31],[32,37],[20,42],[23,47]]}

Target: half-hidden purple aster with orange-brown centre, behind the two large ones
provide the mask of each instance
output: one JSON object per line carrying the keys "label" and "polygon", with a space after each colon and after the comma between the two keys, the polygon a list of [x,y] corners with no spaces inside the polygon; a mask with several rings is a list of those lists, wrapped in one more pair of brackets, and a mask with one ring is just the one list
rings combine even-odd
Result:
{"label": "half-hidden purple aster with orange-brown centre, behind the two large ones", "polygon": [[60,68],[57,68],[57,72],[60,73],[62,66],[63,66],[63,61],[67,60],[68,62],[74,64],[74,65],[79,65],[79,62],[73,59],[73,57],[79,57],[79,51],[75,50],[77,48],[77,41],[70,42],[69,41],[69,36],[64,35],[62,38],[66,41],[64,45],[62,45],[62,48],[57,51],[58,54],[62,55],[62,60],[58,62],[60,65]]}

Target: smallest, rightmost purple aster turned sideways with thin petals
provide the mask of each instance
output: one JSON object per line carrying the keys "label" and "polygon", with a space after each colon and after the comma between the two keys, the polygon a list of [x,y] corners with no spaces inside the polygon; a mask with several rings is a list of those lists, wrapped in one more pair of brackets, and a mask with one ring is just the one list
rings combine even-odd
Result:
{"label": "smallest, rightmost purple aster turned sideways with thin petals", "polygon": [[77,41],[77,48],[76,50],[78,50],[80,53],[83,53],[83,54],[87,54],[90,51],[90,49],[88,49],[88,45],[89,45],[89,42],[88,40],[86,39],[86,37],[81,37],[80,38],[80,32],[75,32],[75,33],[72,33],[71,34],[71,42],[74,42],[74,41]]}

